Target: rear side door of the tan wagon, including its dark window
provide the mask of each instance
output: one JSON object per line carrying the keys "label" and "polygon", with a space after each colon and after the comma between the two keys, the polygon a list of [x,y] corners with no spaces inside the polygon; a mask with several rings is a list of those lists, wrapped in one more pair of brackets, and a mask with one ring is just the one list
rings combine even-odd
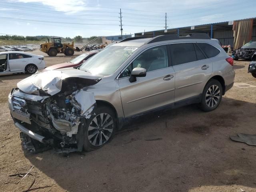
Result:
{"label": "rear side door of the tan wagon, including its dark window", "polygon": [[212,59],[193,42],[170,44],[170,52],[175,71],[174,102],[197,98],[212,74]]}

